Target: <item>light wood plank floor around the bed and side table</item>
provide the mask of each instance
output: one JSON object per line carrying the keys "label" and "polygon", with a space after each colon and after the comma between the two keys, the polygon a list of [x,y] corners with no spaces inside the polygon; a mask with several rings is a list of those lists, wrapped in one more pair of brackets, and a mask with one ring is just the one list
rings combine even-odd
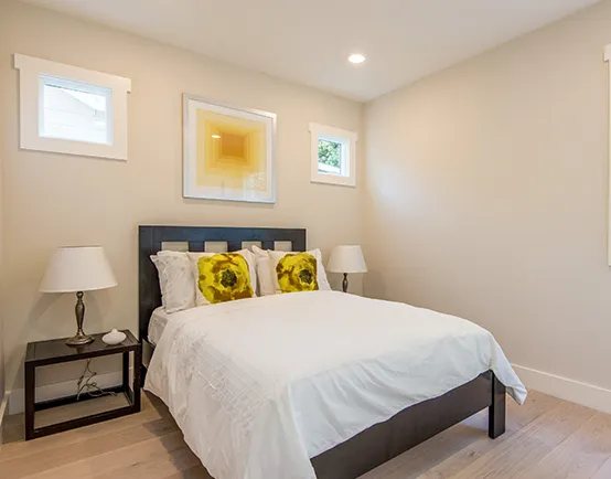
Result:
{"label": "light wood plank floor around the bed and side table", "polygon": [[[10,418],[0,478],[210,479],[168,409],[156,398],[143,404],[140,414],[29,443]],[[479,414],[362,479],[611,479],[611,415],[537,392],[522,407],[507,404],[499,439]]]}

